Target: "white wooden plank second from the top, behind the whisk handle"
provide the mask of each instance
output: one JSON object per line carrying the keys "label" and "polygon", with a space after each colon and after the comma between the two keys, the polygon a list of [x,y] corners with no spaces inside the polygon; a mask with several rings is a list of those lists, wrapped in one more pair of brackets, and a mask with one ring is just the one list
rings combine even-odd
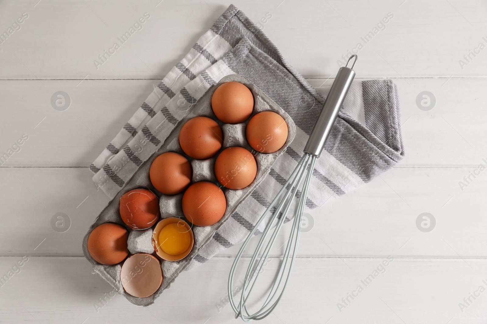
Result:
{"label": "white wooden plank second from the top, behind the whisk handle", "polygon": [[[332,83],[331,79],[308,81],[317,87]],[[398,167],[475,168],[487,158],[486,78],[408,79],[409,85],[403,79],[393,81],[399,90],[406,150]],[[7,152],[22,134],[29,136],[5,166],[88,167],[158,81],[43,82],[47,88],[39,81],[0,81],[4,107],[11,107],[0,120],[0,153]],[[50,103],[59,90],[71,97],[65,111],[55,110]],[[416,105],[416,97],[425,90],[436,99],[430,111]]]}

